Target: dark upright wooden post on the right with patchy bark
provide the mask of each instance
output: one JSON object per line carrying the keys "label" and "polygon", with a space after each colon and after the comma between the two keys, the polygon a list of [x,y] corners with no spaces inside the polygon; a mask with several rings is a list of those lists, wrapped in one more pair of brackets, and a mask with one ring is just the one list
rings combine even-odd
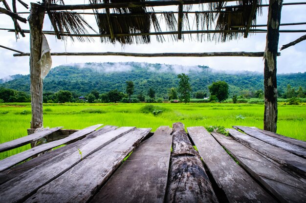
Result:
{"label": "dark upright wooden post on the right with patchy bark", "polygon": [[276,132],[277,84],[276,58],[283,0],[270,0],[266,47],[264,51],[264,118],[263,129]]}

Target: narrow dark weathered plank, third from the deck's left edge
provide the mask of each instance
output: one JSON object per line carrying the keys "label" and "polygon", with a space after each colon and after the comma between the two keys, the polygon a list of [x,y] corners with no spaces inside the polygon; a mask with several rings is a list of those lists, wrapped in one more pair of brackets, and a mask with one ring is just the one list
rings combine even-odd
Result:
{"label": "narrow dark weathered plank, third from the deck's left edge", "polygon": [[59,156],[59,155],[66,156],[69,153],[68,149],[80,148],[80,146],[87,143],[89,139],[96,137],[98,135],[101,135],[103,133],[109,132],[111,130],[114,130],[116,128],[117,128],[116,126],[104,126],[103,128],[95,130],[94,132],[88,134],[87,137],[85,137],[82,140],[78,140],[72,144],[49,151],[48,153],[44,153],[43,155],[35,157],[35,159],[31,159],[21,165],[17,165],[7,170],[4,170],[0,172],[0,185],[15,178],[16,176],[19,176],[25,171],[30,170],[31,168],[38,166],[56,156]]}

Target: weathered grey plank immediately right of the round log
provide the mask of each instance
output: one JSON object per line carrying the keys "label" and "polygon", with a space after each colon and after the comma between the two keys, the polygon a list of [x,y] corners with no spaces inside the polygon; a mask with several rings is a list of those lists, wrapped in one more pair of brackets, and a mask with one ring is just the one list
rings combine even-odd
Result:
{"label": "weathered grey plank immediately right of the round log", "polygon": [[276,202],[228,155],[205,128],[191,127],[187,130],[229,203]]}

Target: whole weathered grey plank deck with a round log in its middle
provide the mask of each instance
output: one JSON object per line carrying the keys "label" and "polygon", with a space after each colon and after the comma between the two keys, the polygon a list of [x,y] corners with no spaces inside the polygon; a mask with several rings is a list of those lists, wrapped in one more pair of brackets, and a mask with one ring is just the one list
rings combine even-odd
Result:
{"label": "whole weathered grey plank deck with a round log in its middle", "polygon": [[97,127],[42,145],[75,141],[20,165],[1,160],[0,203],[306,203],[303,141],[241,126],[247,134],[228,137],[203,127],[187,128],[189,137],[181,123],[154,134]]}

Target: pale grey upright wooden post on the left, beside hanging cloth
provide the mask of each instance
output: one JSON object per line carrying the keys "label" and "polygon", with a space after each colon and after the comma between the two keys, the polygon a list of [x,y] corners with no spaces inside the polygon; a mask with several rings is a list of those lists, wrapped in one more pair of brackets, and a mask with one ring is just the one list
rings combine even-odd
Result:
{"label": "pale grey upright wooden post on the left, beside hanging cloth", "polygon": [[31,128],[43,126],[43,79],[41,77],[41,50],[44,22],[44,9],[31,3],[31,13],[28,18],[30,25],[30,78],[31,78]]}

